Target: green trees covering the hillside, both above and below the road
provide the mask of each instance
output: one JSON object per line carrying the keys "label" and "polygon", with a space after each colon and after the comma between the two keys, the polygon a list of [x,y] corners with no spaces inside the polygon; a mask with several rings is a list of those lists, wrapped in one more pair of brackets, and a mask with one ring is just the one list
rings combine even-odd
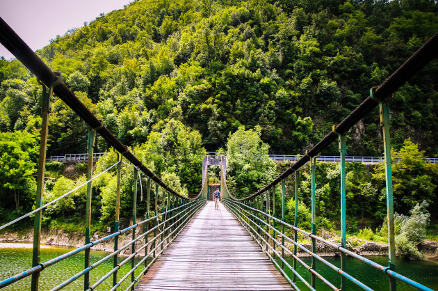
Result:
{"label": "green trees covering the hillside, both above and below the road", "polygon": [[[245,137],[245,129],[257,141],[250,143],[250,154],[302,154],[437,31],[438,3],[432,0],[140,0],[68,31],[37,54],[62,72],[90,111],[172,187],[183,194],[198,191],[206,150],[223,148],[235,163],[230,185],[243,187],[239,195],[245,196],[281,170],[263,160],[269,170],[251,172],[235,159],[231,148]],[[438,62],[433,61],[391,103],[391,146],[399,155],[410,147],[417,157],[408,159],[408,170],[403,164],[398,168],[411,179],[408,186],[395,187],[398,211],[404,213],[436,197],[438,171],[421,157],[438,154],[437,81]],[[8,171],[0,177],[0,196],[15,203],[16,213],[8,215],[16,217],[33,205],[42,89],[19,61],[0,60],[0,82],[0,148],[19,149],[1,158]],[[57,98],[50,118],[48,155],[86,152],[88,128]],[[382,155],[382,144],[375,110],[348,133],[347,152]],[[99,139],[96,151],[107,149]],[[323,155],[337,152],[333,143]],[[114,160],[114,154],[107,155],[98,171]],[[420,170],[412,172],[412,164]],[[60,168],[52,164],[48,171],[59,178]],[[327,202],[337,199],[334,168],[325,166],[318,178],[327,185],[319,190],[318,212],[335,220],[339,205]],[[379,221],[382,169],[353,165],[349,170],[350,201],[369,201],[369,209],[354,205],[351,215]],[[66,183],[48,183],[52,196],[47,200],[63,194]],[[114,183],[110,174],[97,182],[100,212],[95,217],[111,216]],[[305,200],[307,182],[302,183]],[[422,190],[409,196],[419,185]],[[122,189],[126,207],[128,188]],[[81,205],[84,196],[72,199]],[[74,203],[55,206],[48,210],[54,217],[82,211]]]}

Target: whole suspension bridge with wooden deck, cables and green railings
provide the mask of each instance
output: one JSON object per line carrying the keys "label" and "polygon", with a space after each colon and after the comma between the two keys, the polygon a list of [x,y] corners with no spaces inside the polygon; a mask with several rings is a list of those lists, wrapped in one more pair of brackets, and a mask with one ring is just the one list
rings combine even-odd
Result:
{"label": "whole suspension bridge with wooden deck, cables and green railings", "polygon": [[[70,288],[73,282],[83,282],[83,290],[95,290],[104,281],[112,280],[111,290],[300,290],[302,283],[309,290],[316,290],[316,281],[320,281],[332,290],[346,290],[347,286],[357,286],[364,290],[372,290],[366,281],[346,272],[346,256],[355,258],[363,264],[375,268],[389,278],[389,288],[396,290],[398,284],[407,284],[418,290],[431,290],[421,282],[412,281],[396,272],[394,242],[394,201],[392,194],[391,151],[389,137],[389,101],[390,96],[402,86],[407,79],[419,72],[437,55],[438,33],[419,48],[403,65],[379,86],[367,93],[364,101],[338,125],[333,125],[316,146],[307,150],[291,164],[284,173],[268,183],[263,189],[246,198],[236,198],[230,193],[226,183],[225,159],[220,160],[220,189],[222,202],[220,210],[213,210],[207,202],[208,179],[207,166],[203,166],[203,178],[200,192],[193,198],[181,196],[165,184],[157,175],[122,144],[98,120],[79,99],[63,83],[61,74],[52,72],[47,65],[17,36],[13,29],[0,18],[0,42],[12,52],[29,70],[35,74],[43,88],[42,96],[42,129],[40,137],[40,156],[37,175],[37,196],[35,210],[23,217],[0,227],[0,230],[11,224],[34,215],[33,258],[29,269],[8,278],[0,278],[0,289],[24,278],[31,277],[30,290],[39,290],[40,274],[44,269],[56,268],[63,260],[84,252],[84,267],[81,272],[72,275],[63,283],[52,286],[51,290]],[[49,113],[51,100],[56,95],[63,100],[89,127],[88,134],[88,171],[87,182],[68,191],[62,199],[80,187],[87,187],[86,223],[84,226],[84,244],[72,251],[47,261],[40,259],[42,210],[56,202],[52,200],[42,204],[44,194],[44,166],[46,163],[47,133],[49,129]],[[386,168],[386,195],[389,255],[386,266],[378,265],[346,247],[346,138],[345,134],[360,119],[380,107],[380,120],[383,130],[384,157]],[[117,162],[105,171],[117,171],[117,197],[115,202],[114,227],[112,232],[100,239],[92,240],[92,181],[99,175],[93,175],[94,146],[99,134],[108,146],[117,152]],[[339,142],[339,162],[341,163],[341,242],[334,244],[316,235],[315,207],[315,175],[318,155],[334,141]],[[208,162],[209,156],[206,157]],[[126,162],[125,162],[126,161]],[[295,209],[298,210],[298,180],[302,166],[311,164],[311,232],[298,228],[298,212],[295,212],[294,223],[286,223],[284,217],[286,178],[295,179]],[[132,225],[120,229],[120,183],[122,166],[132,166],[133,171],[133,205]],[[147,178],[141,184],[141,175]],[[138,179],[140,178],[140,179]],[[140,185],[138,185],[140,182]],[[145,189],[147,213],[142,221],[137,217],[138,186]],[[143,193],[143,192],[142,192]],[[224,207],[225,206],[225,207]],[[153,213],[149,217],[149,213]],[[213,226],[211,217],[220,219],[219,226]],[[215,224],[216,225],[216,224]],[[142,230],[141,233],[138,230]],[[288,231],[286,231],[288,230]],[[298,243],[298,233],[311,240],[311,249]],[[291,235],[289,235],[291,234]],[[131,235],[127,244],[119,244],[122,236]],[[293,250],[285,246],[285,242],[293,244]],[[90,249],[104,242],[113,242],[113,252],[102,260],[90,262]],[[337,249],[341,253],[341,266],[332,265],[316,253],[316,242],[321,242]],[[121,257],[120,253],[130,250],[131,254]],[[298,250],[311,256],[308,265],[298,257]],[[140,255],[141,253],[141,255]],[[293,258],[290,264],[286,255]],[[139,259],[139,260],[136,260]],[[104,262],[112,261],[113,268],[97,281],[90,281],[90,272]],[[300,264],[309,274],[309,280],[297,271]],[[131,265],[126,274],[118,274],[123,265]],[[325,265],[339,275],[339,280],[328,281],[318,272],[319,266]],[[289,274],[292,274],[291,276]],[[306,276],[307,277],[307,276]],[[77,286],[77,285],[76,285]],[[301,286],[301,285],[300,285]],[[82,289],[81,287],[81,289]]]}

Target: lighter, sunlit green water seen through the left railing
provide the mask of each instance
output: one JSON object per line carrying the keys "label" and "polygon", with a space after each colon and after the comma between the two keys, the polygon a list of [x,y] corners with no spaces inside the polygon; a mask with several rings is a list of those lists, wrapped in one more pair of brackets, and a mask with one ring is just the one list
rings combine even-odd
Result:
{"label": "lighter, sunlit green water seen through the left railing", "polygon": [[[49,248],[41,249],[41,262],[51,260],[56,258],[58,255],[67,253],[72,249],[66,248]],[[90,255],[90,265],[104,258],[108,253],[104,251],[91,251]],[[119,258],[118,262],[124,260],[124,257]],[[136,260],[138,262],[139,260]],[[19,274],[26,269],[29,269],[32,265],[32,249],[0,249],[0,281],[3,281],[10,276]],[[84,266],[84,252],[73,255],[70,258],[58,262],[56,265],[52,265],[47,269],[42,270],[40,276],[40,290],[50,290],[56,285],[63,283],[74,274],[81,272]],[[92,269],[90,272],[90,285],[96,283],[102,276],[107,274],[113,269],[113,258],[107,260]],[[120,280],[129,270],[131,269],[131,262],[127,262],[118,272],[117,280]],[[143,268],[140,268],[143,269]],[[139,271],[136,270],[136,276],[138,276]],[[131,277],[127,278],[126,283],[122,284],[121,290],[127,288],[131,282]],[[113,275],[111,275],[104,283],[99,285],[96,290],[109,290],[113,285]],[[31,288],[31,276],[24,278],[16,283],[13,283],[3,290],[30,290]],[[83,277],[67,285],[63,290],[83,290]]]}

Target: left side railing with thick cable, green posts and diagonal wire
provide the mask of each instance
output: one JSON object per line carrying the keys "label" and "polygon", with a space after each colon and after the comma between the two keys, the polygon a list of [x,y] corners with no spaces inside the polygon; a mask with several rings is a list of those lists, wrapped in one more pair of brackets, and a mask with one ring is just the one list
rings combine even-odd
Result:
{"label": "left side railing with thick cable, green posts and diagonal wire", "polygon": [[[38,78],[38,83],[42,85],[42,129],[40,137],[40,155],[38,161],[37,172],[37,195],[35,199],[35,210],[24,214],[3,226],[0,226],[0,230],[10,226],[17,221],[26,219],[31,214],[34,217],[34,229],[33,229],[33,258],[32,265],[29,269],[24,270],[15,276],[9,278],[0,278],[0,289],[10,284],[22,280],[28,276],[31,278],[30,290],[38,290],[40,288],[40,273],[43,269],[54,266],[59,262],[70,258],[73,255],[85,252],[84,255],[84,269],[71,276],[63,283],[54,286],[51,290],[60,290],[70,283],[78,280],[83,276],[83,290],[95,290],[98,285],[101,285],[106,279],[112,277],[113,283],[111,290],[116,290],[122,287],[122,283],[127,286],[126,290],[131,290],[133,286],[138,283],[141,276],[147,272],[147,269],[156,261],[156,258],[163,253],[168,245],[175,239],[175,237],[186,226],[188,221],[200,210],[202,205],[206,203],[206,182],[202,183],[202,189],[199,194],[194,198],[187,198],[181,196],[174,189],[170,188],[168,184],[165,184],[158,176],[150,171],[143,163],[129,151],[127,146],[124,146],[115,136],[102,124],[100,120],[96,118],[79,99],[70,91],[62,81],[60,73],[52,72],[47,65],[23,42],[17,34],[10,29],[8,24],[0,18],[0,42],[12,52],[19,61],[21,61],[35,76]],[[57,95],[61,100],[67,104],[78,116],[85,121],[89,127],[88,132],[88,153],[86,154],[72,154],[65,155],[63,158],[67,162],[80,162],[87,160],[87,182],[77,186],[76,188],[68,191],[62,196],[51,200],[49,203],[42,205],[44,196],[44,169],[47,150],[47,134],[49,130],[49,113],[51,112],[51,100]],[[117,153],[117,162],[104,170],[102,173],[93,176],[93,162],[102,155],[102,153],[94,153],[96,135],[99,134],[104,140],[108,142],[108,145],[113,148]],[[127,159],[129,163],[124,162],[123,159]],[[60,160],[60,157],[56,157],[56,160]],[[133,208],[132,208],[132,225],[120,230],[120,187],[122,181],[122,164],[133,167]],[[115,219],[113,232],[106,237],[92,240],[91,229],[91,213],[92,213],[92,180],[95,180],[103,173],[110,171],[113,167],[117,167],[117,185],[116,185],[116,197],[115,197]],[[125,171],[126,172],[126,171]],[[137,222],[137,200],[138,200],[138,183],[140,183],[140,193],[143,199],[143,184],[141,175],[147,179],[147,206],[145,212],[145,219]],[[83,229],[85,230],[84,245],[69,251],[63,255],[60,255],[54,259],[46,262],[40,261],[40,244],[41,244],[41,224],[44,208],[56,203],[56,201],[65,198],[72,194],[74,191],[81,187],[87,187],[86,194],[86,213]],[[152,189],[154,187],[154,189]],[[161,199],[159,199],[159,193],[161,191]],[[154,195],[154,203],[151,203],[151,194]],[[159,203],[160,201],[160,203]],[[152,210],[154,216],[149,217],[151,206],[154,205]],[[159,209],[161,206],[161,212]],[[140,231],[140,226],[143,226],[144,231]],[[132,239],[119,246],[119,240],[121,235],[128,235],[131,232]],[[137,233],[140,235],[136,236]],[[90,263],[90,249],[97,244],[102,244],[113,240],[113,252],[106,255],[105,258]],[[144,241],[144,244],[136,249],[136,244],[140,244],[140,241]],[[122,251],[131,249],[131,254],[126,258],[119,258]],[[140,262],[135,263],[134,258],[140,256],[140,251],[144,252]],[[106,275],[102,276],[94,284],[90,283],[90,272],[95,267],[101,265],[103,262],[113,260],[113,269]],[[121,262],[120,262],[121,260]],[[126,265],[131,262],[131,270],[127,274],[122,274],[120,278],[120,268],[122,265]],[[138,272],[138,276],[136,275]],[[118,275],[117,275],[118,274]],[[131,278],[129,281],[128,278]],[[129,282],[128,282],[129,281]],[[46,281],[47,282],[47,281]],[[124,286],[123,286],[124,287]],[[45,286],[47,288],[47,286]]]}

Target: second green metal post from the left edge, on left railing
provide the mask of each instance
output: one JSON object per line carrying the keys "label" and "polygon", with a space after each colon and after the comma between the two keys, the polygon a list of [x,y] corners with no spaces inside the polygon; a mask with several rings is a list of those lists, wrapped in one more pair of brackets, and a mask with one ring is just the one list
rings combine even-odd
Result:
{"label": "second green metal post from the left edge, on left railing", "polygon": [[[88,132],[88,167],[87,167],[87,180],[92,178],[92,155],[95,148],[96,131],[94,129]],[[91,190],[92,181],[87,184],[87,205],[86,205],[86,244],[90,243],[90,228],[91,228]],[[90,265],[90,249],[85,251],[85,264],[84,268],[88,268]],[[90,272],[83,275],[83,290],[87,290],[90,286]]]}

